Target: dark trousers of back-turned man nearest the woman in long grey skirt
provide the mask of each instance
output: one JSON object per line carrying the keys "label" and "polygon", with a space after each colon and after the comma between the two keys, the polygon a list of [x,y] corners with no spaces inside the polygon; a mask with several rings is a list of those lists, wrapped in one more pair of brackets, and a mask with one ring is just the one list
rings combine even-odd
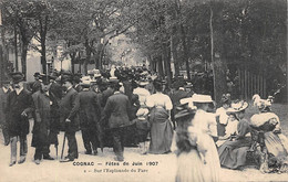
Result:
{"label": "dark trousers of back-turned man nearest the woman in long grey skirt", "polygon": [[125,128],[113,128],[113,150],[117,158],[123,158]]}

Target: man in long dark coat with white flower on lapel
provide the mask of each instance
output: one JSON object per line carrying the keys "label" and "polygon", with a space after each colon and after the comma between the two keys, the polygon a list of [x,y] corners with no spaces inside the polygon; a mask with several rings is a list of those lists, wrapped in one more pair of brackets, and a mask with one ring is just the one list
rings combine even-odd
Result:
{"label": "man in long dark coat with white flower on lapel", "polygon": [[34,162],[40,164],[43,157],[44,160],[53,160],[50,157],[51,142],[58,146],[58,131],[55,130],[56,119],[55,110],[58,110],[56,97],[50,92],[52,85],[49,75],[41,75],[41,89],[32,95],[34,103],[34,127],[32,147],[35,147]]}

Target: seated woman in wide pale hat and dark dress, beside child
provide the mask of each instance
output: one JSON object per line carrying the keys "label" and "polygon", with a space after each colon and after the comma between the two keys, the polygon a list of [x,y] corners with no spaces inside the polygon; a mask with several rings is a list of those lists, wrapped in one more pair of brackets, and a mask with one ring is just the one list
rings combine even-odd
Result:
{"label": "seated woman in wide pale hat and dark dress, beside child", "polygon": [[218,148],[222,167],[239,169],[246,163],[247,151],[251,146],[249,122],[244,118],[247,107],[248,103],[240,100],[232,104],[232,107],[227,109],[227,115],[236,117],[238,121],[230,121],[233,124],[226,129],[226,135],[219,137],[226,140]]}

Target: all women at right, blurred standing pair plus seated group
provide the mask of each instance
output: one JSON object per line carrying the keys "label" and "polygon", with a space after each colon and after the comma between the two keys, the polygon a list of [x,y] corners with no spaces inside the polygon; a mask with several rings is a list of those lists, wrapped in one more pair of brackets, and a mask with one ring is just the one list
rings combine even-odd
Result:
{"label": "all women at right, blurred standing pair plus seated group", "polygon": [[278,116],[270,110],[270,100],[254,96],[258,113],[250,118],[246,116],[249,104],[230,103],[229,95],[224,95],[216,114],[209,110],[213,101],[207,95],[195,94],[181,103],[182,110],[175,116],[176,181],[218,181],[220,167],[243,169],[249,158],[258,162],[261,172],[288,171],[288,139],[280,131]]}

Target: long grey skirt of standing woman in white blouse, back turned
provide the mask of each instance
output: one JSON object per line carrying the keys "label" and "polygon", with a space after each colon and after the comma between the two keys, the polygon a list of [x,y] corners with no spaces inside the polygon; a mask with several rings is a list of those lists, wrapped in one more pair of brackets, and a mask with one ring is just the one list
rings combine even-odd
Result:
{"label": "long grey skirt of standing woman in white blouse, back turned", "polygon": [[154,108],[151,111],[150,122],[150,153],[162,154],[169,152],[173,139],[173,128],[167,111],[163,108]]}

